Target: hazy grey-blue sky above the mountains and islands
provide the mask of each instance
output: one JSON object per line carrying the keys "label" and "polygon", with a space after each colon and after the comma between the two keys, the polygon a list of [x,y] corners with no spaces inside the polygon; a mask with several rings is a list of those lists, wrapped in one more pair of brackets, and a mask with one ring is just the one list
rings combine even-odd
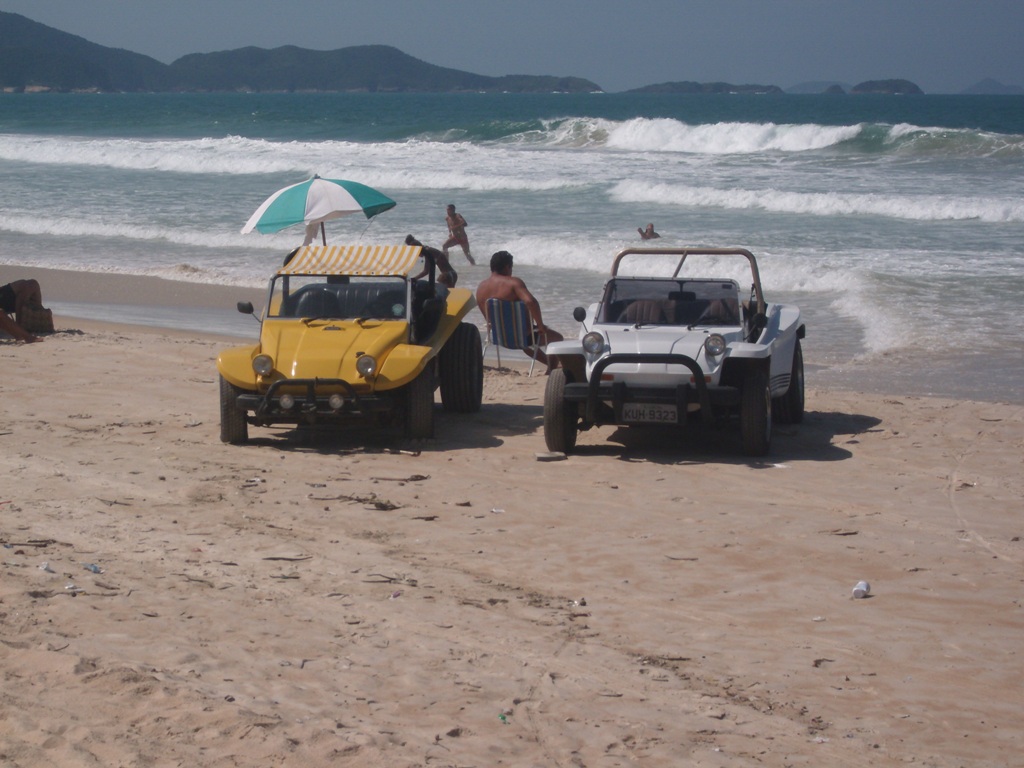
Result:
{"label": "hazy grey-blue sky above the mountains and islands", "polygon": [[383,43],[441,67],[571,75],[608,91],[674,80],[1024,86],[1024,0],[0,0],[0,10],[167,63],[248,45]]}

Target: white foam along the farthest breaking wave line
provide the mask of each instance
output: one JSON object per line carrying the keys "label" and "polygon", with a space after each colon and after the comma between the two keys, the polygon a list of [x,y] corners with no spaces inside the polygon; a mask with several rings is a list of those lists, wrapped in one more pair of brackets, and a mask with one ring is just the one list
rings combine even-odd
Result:
{"label": "white foam along the farthest breaking wave line", "polygon": [[[968,155],[978,157],[1008,152],[1024,155],[1024,137],[1021,136],[922,128],[908,124],[891,127],[750,122],[689,125],[670,118],[613,121],[588,117],[548,120],[541,130],[514,134],[490,144],[449,139],[355,142],[270,141],[241,136],[130,139],[0,134],[0,160],[62,167],[80,165],[193,174],[281,173],[300,177],[316,172],[326,176],[337,167],[347,171],[348,175],[352,171],[372,173],[375,168],[387,167],[397,161],[443,173],[444,169],[478,167],[481,161],[486,167],[492,164],[502,167],[509,163],[522,170],[523,157],[514,151],[529,147],[566,151],[607,148],[625,153],[708,157],[794,154],[840,145],[878,131],[881,131],[885,144],[918,147],[927,141],[930,145],[935,144],[929,150],[933,153],[950,153],[958,147]],[[542,167],[551,165],[550,161],[544,161],[538,155],[530,156],[529,160],[540,162]],[[577,155],[573,162],[588,161]],[[469,175],[471,179],[464,183],[468,183],[469,188],[475,188],[474,184],[480,183],[481,174]],[[508,177],[515,175],[508,174]],[[425,184],[425,179],[416,174],[399,177],[397,181],[397,188],[422,188]],[[434,179],[433,183],[442,184],[443,181]],[[539,188],[551,188],[552,183],[550,179],[542,181]]]}

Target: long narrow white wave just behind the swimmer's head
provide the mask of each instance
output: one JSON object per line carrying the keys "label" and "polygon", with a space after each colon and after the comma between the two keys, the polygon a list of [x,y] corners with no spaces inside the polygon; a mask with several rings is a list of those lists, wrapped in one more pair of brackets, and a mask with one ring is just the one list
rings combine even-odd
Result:
{"label": "long narrow white wave just behind the swimmer's head", "polygon": [[657,203],[688,208],[726,208],[814,216],[884,216],[913,221],[1024,221],[1019,199],[932,195],[910,197],[856,193],[801,193],[780,189],[719,189],[707,186],[620,181],[609,193],[624,203]]}

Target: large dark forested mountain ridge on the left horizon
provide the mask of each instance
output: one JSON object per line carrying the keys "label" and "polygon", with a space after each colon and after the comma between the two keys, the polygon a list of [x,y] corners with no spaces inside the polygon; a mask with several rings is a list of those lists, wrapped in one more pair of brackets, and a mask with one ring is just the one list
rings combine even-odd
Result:
{"label": "large dark forested mountain ridge on the left horizon", "polygon": [[397,48],[295,46],[193,53],[171,65],[106,48],[17,13],[0,12],[0,89],[6,91],[512,91],[589,92],[573,77],[487,77],[421,61]]}

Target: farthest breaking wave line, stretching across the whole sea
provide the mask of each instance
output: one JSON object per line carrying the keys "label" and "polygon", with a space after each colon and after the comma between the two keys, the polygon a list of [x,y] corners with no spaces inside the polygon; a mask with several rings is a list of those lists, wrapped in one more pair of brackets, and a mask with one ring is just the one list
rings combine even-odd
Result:
{"label": "farthest breaking wave line, stretching across the whole sea", "polygon": [[[510,126],[511,128],[511,126]],[[522,151],[535,151],[528,163]],[[549,151],[552,157],[545,157]],[[567,158],[563,152],[572,155]],[[60,167],[182,174],[358,178],[393,189],[554,189],[594,153],[675,154],[691,158],[835,152],[847,156],[927,159],[1024,158],[1024,136],[914,125],[709,123],[670,118],[559,118],[501,138],[465,135],[396,141],[262,138],[132,139],[0,134],[0,161]],[[595,158],[595,162],[598,159]],[[462,169],[469,169],[463,171]],[[483,172],[480,172],[480,170]]]}

